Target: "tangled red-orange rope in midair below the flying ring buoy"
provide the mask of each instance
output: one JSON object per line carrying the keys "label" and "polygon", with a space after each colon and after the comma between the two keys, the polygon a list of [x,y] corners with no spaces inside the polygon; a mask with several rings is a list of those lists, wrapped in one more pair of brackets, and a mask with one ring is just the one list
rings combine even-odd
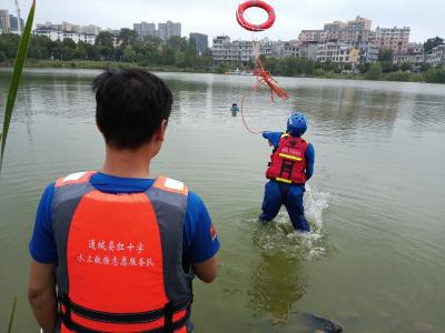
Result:
{"label": "tangled red-orange rope in midair below the flying ring buoy", "polygon": [[270,100],[274,102],[274,93],[276,93],[280,99],[287,100],[289,98],[289,94],[287,93],[286,90],[280,88],[278,85],[278,82],[271,77],[270,72],[265,70],[265,67],[263,64],[261,59],[258,57],[257,58],[257,63],[256,67],[253,71],[253,73],[257,77],[257,82],[251,87],[251,89],[243,95],[241,100],[241,118],[243,118],[243,123],[246,127],[247,131],[253,133],[253,134],[261,134],[263,131],[253,131],[249,129],[246,122],[246,118],[244,114],[244,103],[245,100],[254,92],[256,91],[259,87],[261,85],[267,85],[270,89]]}

